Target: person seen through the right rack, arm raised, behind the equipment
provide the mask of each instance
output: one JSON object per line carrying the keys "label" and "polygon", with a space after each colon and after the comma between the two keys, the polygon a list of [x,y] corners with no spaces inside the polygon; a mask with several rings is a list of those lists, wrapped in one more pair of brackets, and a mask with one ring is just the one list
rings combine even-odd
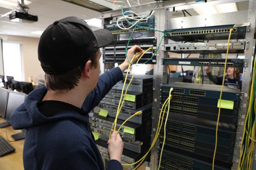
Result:
{"label": "person seen through the right rack, arm raised, behind the equipment", "polygon": [[[205,67],[204,69],[206,71],[208,78],[213,83],[215,83],[216,85],[222,85],[223,76],[220,76],[220,77],[213,76],[212,73],[210,72],[210,67]],[[234,68],[234,67],[227,68],[227,74],[224,79],[224,84],[226,83],[234,84],[239,86],[239,88],[241,88],[242,82],[240,80],[239,68]]]}

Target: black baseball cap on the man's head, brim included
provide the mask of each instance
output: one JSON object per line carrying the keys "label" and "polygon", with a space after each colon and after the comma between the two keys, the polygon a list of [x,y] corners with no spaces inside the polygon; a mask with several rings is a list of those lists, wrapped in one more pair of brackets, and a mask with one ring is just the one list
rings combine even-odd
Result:
{"label": "black baseball cap on the man's head, brim included", "polygon": [[63,74],[85,62],[113,41],[106,29],[92,31],[77,17],[66,17],[48,26],[40,37],[38,59],[46,74]]}

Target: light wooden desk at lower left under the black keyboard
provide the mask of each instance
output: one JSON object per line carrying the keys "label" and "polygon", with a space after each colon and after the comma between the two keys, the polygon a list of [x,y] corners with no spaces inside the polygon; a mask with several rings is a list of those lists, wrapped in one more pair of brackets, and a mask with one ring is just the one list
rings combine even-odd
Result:
{"label": "light wooden desk at lower left under the black keyboard", "polygon": [[[5,122],[3,119],[0,119],[0,123]],[[7,132],[8,138],[10,141],[12,141],[11,135],[15,133],[20,133],[21,130],[13,130],[12,126],[0,128],[0,133],[5,131]],[[3,132],[0,134],[3,136],[4,139],[6,138],[6,133]],[[24,146],[25,139],[15,141],[15,142],[9,142],[12,144],[13,147],[15,147],[15,152],[9,153],[5,156],[0,157],[0,170],[24,170],[23,168],[23,146]]]}

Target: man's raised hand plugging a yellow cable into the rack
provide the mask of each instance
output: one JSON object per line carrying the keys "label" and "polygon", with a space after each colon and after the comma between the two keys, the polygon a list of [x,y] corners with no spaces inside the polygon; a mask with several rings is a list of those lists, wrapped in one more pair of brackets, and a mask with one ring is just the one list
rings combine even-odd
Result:
{"label": "man's raised hand plugging a yellow cable into the rack", "polygon": [[[139,52],[143,52],[143,49],[141,49],[138,45],[134,45],[132,48],[128,49],[128,51],[127,51],[127,57],[128,57],[128,59],[129,59],[129,61],[130,61],[131,63],[136,62],[137,59],[140,57],[140,55],[141,55],[142,53],[141,53],[141,54],[138,54],[138,55],[131,61],[132,57],[134,57],[134,55],[135,55],[136,53],[139,53]],[[124,71],[128,68],[128,66],[129,66],[129,64],[130,64],[130,62],[128,61],[128,59],[125,58],[125,61],[124,61],[122,64],[118,65],[118,67],[122,70],[122,72],[124,72]]]}

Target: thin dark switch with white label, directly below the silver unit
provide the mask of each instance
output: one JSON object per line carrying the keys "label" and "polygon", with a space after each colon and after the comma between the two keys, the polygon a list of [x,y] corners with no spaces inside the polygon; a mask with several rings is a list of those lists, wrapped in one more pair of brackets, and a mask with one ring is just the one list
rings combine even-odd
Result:
{"label": "thin dark switch with white label, directly below the silver unit", "polygon": [[[163,65],[189,65],[224,67],[225,59],[220,58],[163,58]],[[244,59],[227,59],[227,67],[244,67]]]}

